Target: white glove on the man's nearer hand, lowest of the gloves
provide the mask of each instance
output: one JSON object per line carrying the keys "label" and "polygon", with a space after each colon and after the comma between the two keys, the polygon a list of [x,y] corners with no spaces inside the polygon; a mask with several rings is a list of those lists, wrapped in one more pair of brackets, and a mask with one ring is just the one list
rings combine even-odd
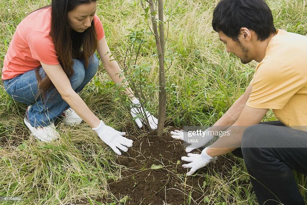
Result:
{"label": "white glove on the man's nearer hand, lowest of the gloves", "polygon": [[216,157],[210,157],[207,155],[206,150],[208,147],[204,148],[201,154],[192,154],[188,153],[188,157],[181,157],[181,160],[186,162],[191,162],[188,164],[183,164],[184,168],[191,168],[191,170],[187,173],[187,175],[194,174],[198,169],[207,166],[210,162],[215,162]]}

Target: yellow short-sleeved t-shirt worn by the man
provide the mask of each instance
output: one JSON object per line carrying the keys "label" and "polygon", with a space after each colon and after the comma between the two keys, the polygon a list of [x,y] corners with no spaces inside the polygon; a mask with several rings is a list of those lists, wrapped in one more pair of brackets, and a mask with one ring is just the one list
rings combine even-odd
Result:
{"label": "yellow short-sleeved t-shirt worn by the man", "polygon": [[306,36],[278,29],[268,44],[266,56],[256,67],[246,105],[270,108],[286,126],[306,130]]}

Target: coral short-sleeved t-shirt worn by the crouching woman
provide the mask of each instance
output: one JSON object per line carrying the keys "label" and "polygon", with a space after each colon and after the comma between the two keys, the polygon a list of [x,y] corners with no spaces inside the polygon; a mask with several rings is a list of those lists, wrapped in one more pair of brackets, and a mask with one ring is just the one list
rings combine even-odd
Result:
{"label": "coral short-sleeved t-shirt worn by the crouching woman", "polygon": [[[104,36],[103,26],[96,14],[93,21],[100,40]],[[40,61],[48,65],[60,63],[49,35],[50,29],[51,7],[30,13],[18,24],[4,58],[2,80],[35,69],[41,65]]]}

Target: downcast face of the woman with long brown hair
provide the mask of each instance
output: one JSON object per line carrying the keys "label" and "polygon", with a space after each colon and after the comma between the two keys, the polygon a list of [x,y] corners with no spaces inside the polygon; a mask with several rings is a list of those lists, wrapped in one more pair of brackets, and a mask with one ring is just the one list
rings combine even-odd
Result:
{"label": "downcast face of the woman with long brown hair", "polygon": [[81,4],[67,13],[68,25],[76,32],[84,32],[91,26],[94,19],[97,3],[92,1],[88,4]]}

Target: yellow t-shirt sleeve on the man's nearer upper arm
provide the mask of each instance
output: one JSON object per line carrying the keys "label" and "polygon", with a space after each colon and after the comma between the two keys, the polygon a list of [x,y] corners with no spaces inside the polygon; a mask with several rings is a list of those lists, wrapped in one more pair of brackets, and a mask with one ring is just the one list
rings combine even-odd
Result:
{"label": "yellow t-shirt sleeve on the man's nearer upper arm", "polygon": [[288,65],[273,61],[260,63],[246,105],[260,109],[282,109],[306,83],[304,76]]}

